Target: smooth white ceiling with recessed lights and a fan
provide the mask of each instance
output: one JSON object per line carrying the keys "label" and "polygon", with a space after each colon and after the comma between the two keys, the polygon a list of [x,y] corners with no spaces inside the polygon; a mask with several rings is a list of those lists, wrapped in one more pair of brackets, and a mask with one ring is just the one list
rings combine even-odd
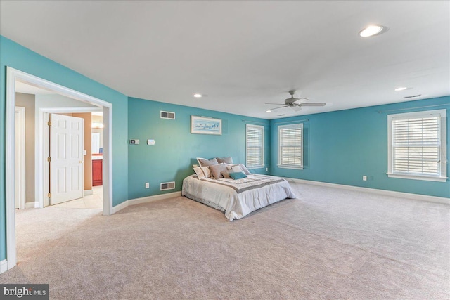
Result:
{"label": "smooth white ceiling with recessed lights and a fan", "polygon": [[[450,1],[2,0],[0,11],[4,37],[136,98],[274,119],[450,95]],[[369,24],[389,30],[359,37]],[[290,89],[327,105],[267,113]]]}

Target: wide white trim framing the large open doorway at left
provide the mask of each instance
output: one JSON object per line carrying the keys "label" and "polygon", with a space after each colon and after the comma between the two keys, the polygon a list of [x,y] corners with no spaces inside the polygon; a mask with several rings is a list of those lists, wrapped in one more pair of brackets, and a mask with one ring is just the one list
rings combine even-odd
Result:
{"label": "wide white trim framing the large open doorway at left", "polygon": [[[103,107],[103,215],[113,213],[113,104],[32,74],[6,67],[6,259],[8,270],[17,264],[15,244],[15,81],[41,86],[85,103]],[[37,162],[39,164],[39,162]],[[43,167],[43,164],[41,163]],[[41,178],[37,176],[38,183]],[[39,188],[39,185],[36,186]],[[42,185],[41,185],[42,188]]]}

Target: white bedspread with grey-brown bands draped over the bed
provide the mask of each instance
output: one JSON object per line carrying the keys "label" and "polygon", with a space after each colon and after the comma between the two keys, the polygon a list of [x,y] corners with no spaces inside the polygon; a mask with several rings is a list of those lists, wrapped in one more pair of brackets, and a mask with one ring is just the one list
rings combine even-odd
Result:
{"label": "white bedspread with grey-brown bands draped over the bed", "polygon": [[286,198],[295,198],[288,181],[275,176],[250,174],[247,178],[184,178],[181,195],[224,211],[230,221]]}

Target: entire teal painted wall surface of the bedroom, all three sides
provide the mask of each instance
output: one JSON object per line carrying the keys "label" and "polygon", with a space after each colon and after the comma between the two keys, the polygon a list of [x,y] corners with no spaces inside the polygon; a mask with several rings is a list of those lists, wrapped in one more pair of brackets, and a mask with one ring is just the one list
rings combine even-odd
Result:
{"label": "entire teal painted wall surface of the bedroom, all three sides", "polygon": [[[195,157],[233,157],[245,163],[245,124],[264,125],[264,164],[254,173],[301,178],[406,193],[450,197],[450,183],[388,178],[387,112],[409,107],[446,104],[450,97],[417,100],[377,107],[326,112],[276,120],[232,115],[194,107],[172,105],[151,100],[128,98],[15,42],[0,37],[0,261],[6,259],[6,195],[5,195],[5,108],[6,66],[67,86],[109,103],[113,103],[113,205],[161,193],[160,183],[175,181],[181,190],[184,177],[193,174]],[[436,107],[443,108],[443,107]],[[432,108],[428,108],[432,109]],[[176,113],[175,120],[160,119],[160,110]],[[425,108],[426,110],[426,108]],[[221,136],[191,134],[191,115],[222,119]],[[277,125],[294,120],[304,123],[303,170],[279,169],[277,162]],[[450,122],[447,122],[449,157]],[[139,139],[130,145],[129,139]],[[155,145],[146,145],[148,138]],[[450,170],[447,164],[447,174]],[[362,176],[368,181],[362,181]],[[150,188],[145,188],[145,183]]]}

